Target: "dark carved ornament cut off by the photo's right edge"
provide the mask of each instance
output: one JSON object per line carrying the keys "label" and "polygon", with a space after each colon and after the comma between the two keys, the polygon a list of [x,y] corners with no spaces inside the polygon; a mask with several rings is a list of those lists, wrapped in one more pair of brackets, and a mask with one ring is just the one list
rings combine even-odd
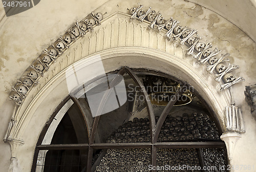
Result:
{"label": "dark carved ornament cut off by the photo's right edge", "polygon": [[256,83],[245,87],[245,100],[251,106],[251,114],[256,117]]}

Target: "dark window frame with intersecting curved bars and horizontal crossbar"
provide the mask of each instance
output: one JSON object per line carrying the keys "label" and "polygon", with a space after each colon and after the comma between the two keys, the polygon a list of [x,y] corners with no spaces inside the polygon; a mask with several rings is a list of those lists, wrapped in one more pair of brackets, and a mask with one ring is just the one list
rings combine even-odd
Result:
{"label": "dark window frame with intersecting curved bars and horizontal crossbar", "polygon": [[[113,73],[116,73],[117,71],[114,71]],[[161,127],[164,123],[165,118],[167,117],[168,113],[172,110],[172,107],[174,106],[174,104],[176,103],[176,101],[182,96],[182,94],[189,88],[191,92],[193,92],[200,100],[201,102],[205,105],[205,107],[207,108],[207,110],[209,111],[209,113],[211,114],[211,116],[214,118],[215,122],[216,122],[216,126],[218,128],[219,131],[223,132],[221,130],[219,121],[215,118],[214,116],[214,112],[210,109],[210,107],[208,106],[208,104],[202,99],[202,97],[200,96],[200,94],[196,91],[196,90],[192,90],[191,87],[189,87],[189,84],[185,81],[179,81],[177,78],[161,73],[161,72],[157,72],[157,71],[153,71],[153,70],[149,70],[149,69],[130,69],[129,67],[122,67],[118,72],[113,80],[110,82],[110,88],[113,88],[114,85],[118,82],[119,77],[124,75],[124,74],[128,74],[131,76],[131,78],[139,85],[140,89],[143,92],[143,95],[145,96],[145,103],[146,103],[146,108],[147,108],[147,112],[148,112],[148,117],[150,120],[150,130],[151,130],[151,140],[150,142],[133,142],[133,143],[94,143],[95,141],[95,134],[96,134],[96,130],[97,130],[97,126],[98,126],[98,122],[100,119],[99,115],[96,115],[96,117],[93,120],[93,123],[90,124],[89,123],[89,119],[87,114],[85,114],[83,107],[81,105],[81,103],[79,102],[79,100],[76,98],[76,96],[74,96],[75,93],[72,93],[70,95],[68,95],[56,108],[56,110],[54,111],[53,115],[51,116],[51,118],[49,119],[49,121],[47,121],[44,129],[42,130],[40,137],[37,141],[37,145],[35,148],[35,154],[34,154],[34,159],[33,159],[33,164],[32,164],[32,169],[31,171],[35,171],[36,169],[36,162],[37,162],[37,156],[39,153],[39,150],[58,150],[58,149],[88,149],[88,161],[87,161],[87,172],[91,171],[92,168],[92,158],[93,158],[93,150],[94,149],[112,149],[112,148],[151,148],[151,165],[152,166],[157,166],[157,148],[197,148],[198,149],[198,155],[200,158],[200,165],[201,166],[205,166],[204,165],[204,159],[202,156],[202,150],[201,148],[225,148],[225,143],[223,141],[204,141],[204,142],[157,142],[158,139],[158,135],[160,133]],[[181,88],[180,90],[170,99],[170,101],[167,103],[167,105],[165,106],[164,110],[162,111],[159,120],[155,121],[155,115],[154,115],[154,111],[153,111],[153,107],[152,107],[152,103],[148,97],[148,94],[144,88],[143,83],[141,82],[141,80],[139,79],[139,77],[137,76],[136,73],[140,73],[140,74],[157,74],[157,75],[161,75],[170,79],[174,79],[177,82],[180,83]],[[97,78],[96,78],[97,79]],[[105,100],[108,98],[109,94],[111,92],[111,89],[109,89],[108,91],[106,91],[103,95],[103,98],[101,99],[100,105],[98,107],[98,111],[97,113],[100,114],[104,104],[105,104]],[[84,116],[84,120],[85,123],[87,125],[87,130],[88,130],[88,136],[89,136],[89,140],[88,140],[88,144],[84,143],[84,144],[47,144],[47,145],[42,145],[42,140],[44,139],[44,136],[52,122],[52,120],[54,119],[54,117],[56,116],[56,114],[59,112],[59,110],[61,109],[61,107],[66,104],[66,102],[68,100],[72,99],[72,101],[74,102],[74,104],[77,105],[77,107],[79,108],[79,111],[81,112],[81,114]],[[227,157],[227,156],[226,156]],[[226,162],[228,162],[226,160]],[[155,171],[155,170],[152,170]],[[202,170],[204,171],[204,170]]]}

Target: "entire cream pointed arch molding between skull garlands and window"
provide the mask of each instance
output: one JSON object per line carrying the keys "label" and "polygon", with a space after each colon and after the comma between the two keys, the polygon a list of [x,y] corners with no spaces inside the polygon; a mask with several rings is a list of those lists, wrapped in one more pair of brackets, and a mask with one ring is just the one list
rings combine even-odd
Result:
{"label": "entire cream pointed arch molding between skull garlands and window", "polygon": [[[95,17],[94,15],[91,16]],[[191,65],[191,58],[187,58],[183,51],[184,45],[177,47],[175,42],[168,41],[164,30],[159,32],[148,30],[148,22],[141,23],[138,20],[130,21],[130,19],[131,15],[116,12],[101,20],[100,26],[91,27],[91,32],[84,32],[83,36],[79,30],[79,22],[76,22],[77,26],[75,27],[80,31],[80,35],[76,41],[74,37],[72,45],[64,44],[61,41],[62,38],[58,39],[53,43],[54,47],[49,47],[43,53],[49,56],[49,51],[52,48],[59,53],[57,56],[51,57],[52,61],[48,66],[41,63],[42,56],[39,56],[39,59],[34,61],[31,68],[25,72],[27,76],[31,70],[35,71],[33,68],[36,64],[41,64],[44,67],[44,70],[41,71],[41,74],[44,75],[42,76],[39,71],[36,71],[38,77],[35,80],[32,78],[33,83],[24,94],[22,102],[16,105],[5,136],[5,141],[11,144],[12,157],[18,158],[20,164],[30,166],[28,163],[32,163],[26,162],[22,157],[28,156],[32,160],[36,140],[42,127],[57,105],[70,93],[67,88],[67,78],[73,73],[73,69],[79,71],[92,65],[95,63],[96,57],[100,57],[102,60],[105,73],[122,66],[131,68],[143,66],[143,68],[162,71],[187,81],[193,85],[216,113],[223,131],[227,131],[224,121],[227,123],[227,119],[230,119],[225,115],[238,117],[232,113],[225,114],[225,106],[232,103],[230,92],[219,92],[220,85],[215,82],[214,77],[204,72],[203,66],[197,63]],[[68,31],[68,34],[71,35],[71,31],[72,29]],[[56,44],[59,41],[65,45],[65,51],[56,49]],[[83,82],[103,74],[101,72],[97,69],[90,71]],[[23,82],[22,79],[20,81]],[[75,85],[73,89],[76,87],[79,85]],[[16,94],[16,92],[13,93]],[[49,104],[49,102],[54,103]],[[239,120],[237,123],[242,123],[242,116],[236,119]],[[242,131],[240,126],[232,128],[232,130]]]}

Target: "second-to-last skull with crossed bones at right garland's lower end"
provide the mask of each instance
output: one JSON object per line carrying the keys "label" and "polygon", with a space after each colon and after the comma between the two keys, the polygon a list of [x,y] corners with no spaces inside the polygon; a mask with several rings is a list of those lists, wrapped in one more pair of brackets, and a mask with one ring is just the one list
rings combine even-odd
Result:
{"label": "second-to-last skull with crossed bones at right garland's lower end", "polygon": [[220,63],[216,67],[219,74],[215,74],[215,80],[220,82],[222,77],[225,76],[227,73],[232,72],[233,70],[239,69],[239,66],[234,66],[228,63],[228,67],[225,66],[224,63]]}

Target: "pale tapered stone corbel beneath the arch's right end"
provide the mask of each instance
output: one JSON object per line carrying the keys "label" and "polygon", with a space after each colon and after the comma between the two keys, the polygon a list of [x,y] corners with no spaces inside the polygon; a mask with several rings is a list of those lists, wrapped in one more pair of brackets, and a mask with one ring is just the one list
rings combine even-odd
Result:
{"label": "pale tapered stone corbel beneath the arch's right end", "polygon": [[237,141],[241,138],[240,134],[237,132],[226,132],[221,135],[221,140],[223,140],[227,147],[227,155],[229,161],[232,160],[234,147]]}

